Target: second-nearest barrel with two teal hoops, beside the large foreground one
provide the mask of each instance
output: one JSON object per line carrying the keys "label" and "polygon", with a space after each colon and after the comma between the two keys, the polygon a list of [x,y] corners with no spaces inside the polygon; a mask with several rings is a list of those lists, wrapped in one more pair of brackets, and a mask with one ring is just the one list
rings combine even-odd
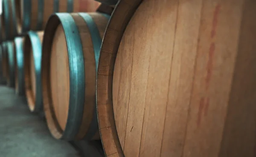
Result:
{"label": "second-nearest barrel with two teal hoops, beside the large foreground one", "polygon": [[45,29],[44,111],[56,139],[99,139],[96,71],[109,15],[57,13]]}

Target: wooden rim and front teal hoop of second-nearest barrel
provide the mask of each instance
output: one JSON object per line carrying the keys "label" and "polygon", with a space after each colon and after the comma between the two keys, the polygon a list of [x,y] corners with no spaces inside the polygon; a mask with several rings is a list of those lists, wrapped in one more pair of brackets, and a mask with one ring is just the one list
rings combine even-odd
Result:
{"label": "wooden rim and front teal hoop of second-nearest barrel", "polygon": [[[61,25],[64,29],[67,42],[68,60],[70,69],[70,99],[67,123],[64,130],[59,126],[54,109],[49,81],[49,58],[51,55],[52,41],[57,27]],[[42,81],[44,110],[47,126],[51,134],[57,139],[73,140],[81,126],[84,110],[84,57],[81,39],[78,28],[73,17],[69,13],[56,13],[49,17],[45,28],[45,38],[43,40],[43,61],[42,61]],[[67,38],[69,36],[69,38]],[[73,114],[76,113],[76,114]]]}

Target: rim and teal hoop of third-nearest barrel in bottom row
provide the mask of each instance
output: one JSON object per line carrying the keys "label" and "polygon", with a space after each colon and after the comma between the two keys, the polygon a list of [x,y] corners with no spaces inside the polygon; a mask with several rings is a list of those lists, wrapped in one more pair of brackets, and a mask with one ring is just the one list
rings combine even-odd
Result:
{"label": "rim and teal hoop of third-nearest barrel in bottom row", "polygon": [[[41,55],[42,55],[42,48],[41,48],[41,41],[39,39],[38,34],[35,31],[29,31],[24,40],[23,45],[23,57],[24,57],[24,77],[25,77],[25,93],[26,97],[28,97],[29,92],[32,92],[30,88],[31,83],[27,80],[27,76],[30,77],[30,71],[27,68],[30,68],[30,52],[31,49],[33,51],[33,58],[35,63],[35,81],[36,81],[36,94],[35,100],[33,102],[28,101],[29,110],[31,112],[41,113],[43,112],[43,99],[42,99],[42,87],[41,87]],[[30,80],[30,78],[29,78]]]}

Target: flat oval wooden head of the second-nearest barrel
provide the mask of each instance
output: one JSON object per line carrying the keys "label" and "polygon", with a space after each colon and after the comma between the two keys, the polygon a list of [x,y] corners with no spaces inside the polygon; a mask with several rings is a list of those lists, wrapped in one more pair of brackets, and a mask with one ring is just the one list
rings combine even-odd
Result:
{"label": "flat oval wooden head of the second-nearest barrel", "polygon": [[56,29],[52,42],[50,84],[54,113],[61,129],[64,130],[70,102],[70,76],[67,43],[61,25]]}

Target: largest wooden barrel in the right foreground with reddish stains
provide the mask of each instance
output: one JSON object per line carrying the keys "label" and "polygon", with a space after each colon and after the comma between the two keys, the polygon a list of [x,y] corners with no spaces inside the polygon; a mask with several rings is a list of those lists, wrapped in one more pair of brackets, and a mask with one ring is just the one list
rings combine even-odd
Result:
{"label": "largest wooden barrel in the right foreground with reddish stains", "polygon": [[97,75],[111,157],[254,157],[255,0],[120,0]]}

